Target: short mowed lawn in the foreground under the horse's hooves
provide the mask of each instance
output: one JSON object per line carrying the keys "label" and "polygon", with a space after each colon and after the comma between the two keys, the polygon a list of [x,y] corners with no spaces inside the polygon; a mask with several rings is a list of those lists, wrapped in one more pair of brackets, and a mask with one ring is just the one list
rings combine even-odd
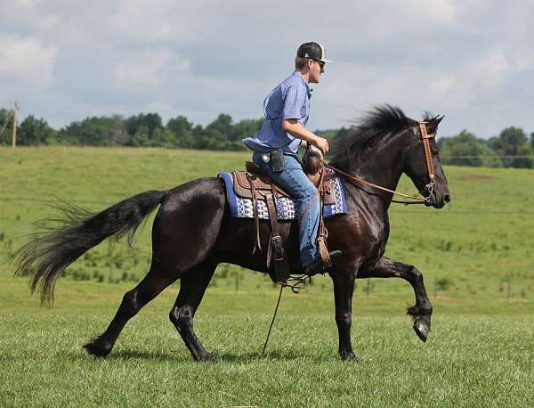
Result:
{"label": "short mowed lawn in the foreground under the horse's hooves", "polygon": [[195,324],[216,360],[194,363],[167,319],[170,288],[96,360],[81,346],[105,329],[124,285],[63,282],[56,306],[41,309],[22,298],[23,282],[2,283],[12,296],[1,299],[1,406],[471,407],[534,398],[532,314],[506,301],[490,302],[489,314],[458,314],[435,300],[424,344],[401,299],[357,296],[352,341],[361,360],[342,362],[330,296],[286,293],[262,355],[276,294],[214,288]]}

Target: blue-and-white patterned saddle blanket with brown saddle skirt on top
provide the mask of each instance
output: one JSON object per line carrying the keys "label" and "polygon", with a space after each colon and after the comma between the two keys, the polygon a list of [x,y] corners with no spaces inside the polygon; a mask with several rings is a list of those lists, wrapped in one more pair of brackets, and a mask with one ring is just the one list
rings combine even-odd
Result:
{"label": "blue-and-white patterned saddle blanket with brown saddle skirt on top", "polygon": [[[346,201],[344,188],[339,177],[327,170],[327,182],[325,182],[325,202],[323,217],[346,214]],[[255,186],[256,210],[258,218],[269,219],[269,210],[265,201],[265,195],[271,194],[271,179],[266,175],[257,175],[246,171],[219,172],[223,178],[226,198],[230,206],[232,217],[254,218],[253,193],[250,183]],[[278,220],[295,219],[295,200],[291,199],[287,192],[278,185],[273,184],[276,191],[276,212]]]}

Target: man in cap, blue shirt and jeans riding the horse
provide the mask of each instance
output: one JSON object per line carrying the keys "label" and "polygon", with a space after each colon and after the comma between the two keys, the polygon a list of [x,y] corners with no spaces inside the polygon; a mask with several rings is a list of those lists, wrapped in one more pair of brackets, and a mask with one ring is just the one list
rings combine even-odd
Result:
{"label": "man in cap, blue shirt and jeans riding the horse", "polygon": [[[323,273],[317,235],[320,226],[320,200],[317,188],[304,174],[297,156],[301,143],[314,144],[320,154],[328,153],[327,139],[306,129],[310,116],[312,87],[325,72],[325,48],[311,42],[301,45],[295,58],[295,71],[267,95],[263,101],[265,121],[255,137],[243,139],[254,151],[253,161],[271,179],[295,199],[300,239],[300,258],[304,273]],[[333,251],[330,258],[341,255]]]}

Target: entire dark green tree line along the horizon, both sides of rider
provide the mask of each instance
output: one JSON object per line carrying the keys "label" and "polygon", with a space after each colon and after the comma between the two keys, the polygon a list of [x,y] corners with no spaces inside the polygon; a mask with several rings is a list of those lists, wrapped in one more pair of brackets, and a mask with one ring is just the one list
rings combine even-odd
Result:
{"label": "entire dark green tree line along the horizon, both sides of rider", "polygon": [[[127,118],[119,115],[85,118],[56,130],[44,118],[29,115],[18,125],[17,144],[245,151],[247,147],[241,143],[241,139],[255,135],[262,125],[263,118],[234,122],[225,113],[207,126],[195,125],[181,115],[164,124],[158,113],[139,113]],[[351,134],[351,129],[342,127],[317,133],[328,138],[330,153],[334,155]],[[10,145],[11,139],[12,111],[0,109],[0,144]],[[438,138],[438,144],[443,164],[534,168],[534,132],[527,135],[519,127],[506,127],[499,135],[489,139],[463,130],[458,135]]]}

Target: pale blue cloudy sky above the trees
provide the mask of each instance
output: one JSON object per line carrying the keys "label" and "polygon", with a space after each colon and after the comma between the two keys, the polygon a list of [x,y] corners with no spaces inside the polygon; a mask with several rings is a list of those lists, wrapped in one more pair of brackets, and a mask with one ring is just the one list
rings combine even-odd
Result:
{"label": "pale blue cloudy sky above the trees", "polygon": [[534,132],[534,0],[2,0],[0,107],[59,128],[158,112],[261,118],[298,45],[325,45],[308,127],[390,103],[441,135]]}

